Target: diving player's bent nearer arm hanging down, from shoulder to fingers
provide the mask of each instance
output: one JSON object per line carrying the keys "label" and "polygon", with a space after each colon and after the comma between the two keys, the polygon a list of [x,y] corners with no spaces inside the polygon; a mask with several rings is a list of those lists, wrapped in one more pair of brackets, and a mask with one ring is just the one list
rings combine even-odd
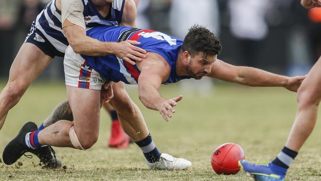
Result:
{"label": "diving player's bent nearer arm hanging down, from shoulder to fingers", "polygon": [[166,62],[157,60],[157,56],[147,58],[139,62],[141,73],[138,78],[139,99],[149,109],[158,110],[165,121],[175,113],[174,106],[183,96],[165,99],[158,91],[161,83],[166,81],[170,73],[170,67]]}

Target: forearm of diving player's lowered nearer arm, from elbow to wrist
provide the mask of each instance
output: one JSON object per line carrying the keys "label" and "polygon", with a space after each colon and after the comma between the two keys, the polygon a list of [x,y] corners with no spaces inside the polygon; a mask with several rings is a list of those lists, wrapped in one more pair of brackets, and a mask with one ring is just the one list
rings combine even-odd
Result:
{"label": "forearm of diving player's lowered nearer arm, from elbow to wrist", "polygon": [[159,110],[159,105],[161,102],[166,100],[153,86],[144,86],[143,88],[140,87],[139,99],[145,107],[153,110]]}

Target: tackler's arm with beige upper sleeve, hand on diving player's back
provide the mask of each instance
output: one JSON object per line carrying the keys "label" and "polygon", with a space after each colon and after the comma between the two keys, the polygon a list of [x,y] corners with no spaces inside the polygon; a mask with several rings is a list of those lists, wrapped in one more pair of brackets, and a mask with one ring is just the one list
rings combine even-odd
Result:
{"label": "tackler's arm with beige upper sleeve, hand on diving player's back", "polygon": [[139,44],[136,41],[121,43],[100,42],[86,36],[84,25],[79,21],[84,18],[82,15],[82,2],[80,0],[73,0],[73,3],[71,1],[67,1],[67,3],[62,2],[62,5],[64,4],[66,4],[66,7],[62,6],[61,9],[62,14],[66,14],[66,17],[62,19],[62,28],[68,43],[76,53],[89,56],[115,54],[131,64],[135,64],[132,60],[141,61],[141,58],[145,57],[143,53],[146,53],[146,51],[134,46]]}

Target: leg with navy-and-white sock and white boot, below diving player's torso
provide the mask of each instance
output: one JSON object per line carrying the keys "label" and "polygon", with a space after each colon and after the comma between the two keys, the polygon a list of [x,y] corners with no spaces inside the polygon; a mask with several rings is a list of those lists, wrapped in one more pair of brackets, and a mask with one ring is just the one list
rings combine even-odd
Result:
{"label": "leg with navy-and-white sock and white boot, below diving player's torso", "polygon": [[190,161],[158,151],[138,106],[130,99],[123,85],[114,85],[114,98],[110,102],[117,110],[125,133],[134,139],[143,151],[147,167],[154,170],[186,170],[189,168],[192,165]]}

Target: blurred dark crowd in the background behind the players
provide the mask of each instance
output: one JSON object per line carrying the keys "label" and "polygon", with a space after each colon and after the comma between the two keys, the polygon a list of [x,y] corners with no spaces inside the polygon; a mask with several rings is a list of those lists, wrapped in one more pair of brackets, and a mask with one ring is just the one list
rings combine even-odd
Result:
{"label": "blurred dark crowd in the background behind the players", "polygon": [[[0,78],[50,0],[0,0]],[[286,75],[304,75],[321,55],[321,9],[300,0],[139,0],[137,27],[184,38],[193,24],[219,35],[220,59]],[[62,59],[41,75],[63,79]]]}

